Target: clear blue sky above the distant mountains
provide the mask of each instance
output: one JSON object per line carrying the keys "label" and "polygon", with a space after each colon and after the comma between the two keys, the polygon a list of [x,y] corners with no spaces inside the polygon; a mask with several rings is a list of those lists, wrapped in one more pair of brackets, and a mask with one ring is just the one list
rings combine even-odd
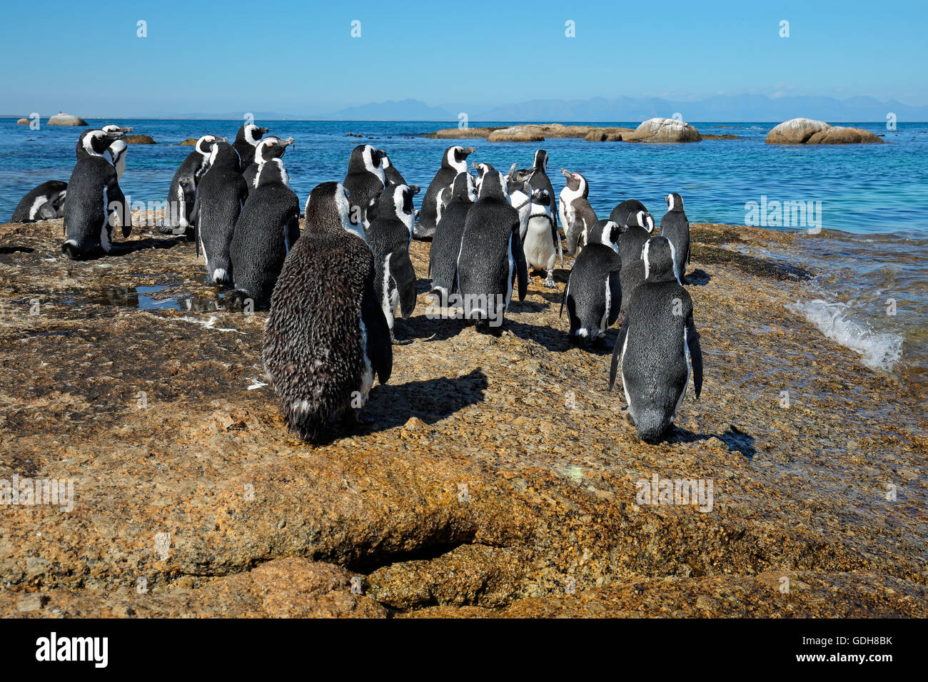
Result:
{"label": "clear blue sky above the distant mountains", "polygon": [[[147,38],[136,37],[139,19]],[[718,93],[919,105],[926,29],[923,0],[7,3],[0,113],[313,114],[407,97],[463,109]]]}

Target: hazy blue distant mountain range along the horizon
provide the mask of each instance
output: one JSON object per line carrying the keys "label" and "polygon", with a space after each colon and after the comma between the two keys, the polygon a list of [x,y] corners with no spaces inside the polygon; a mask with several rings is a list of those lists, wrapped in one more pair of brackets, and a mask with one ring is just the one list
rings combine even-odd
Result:
{"label": "hazy blue distant mountain range along the horizon", "polygon": [[[928,122],[928,106],[912,106],[874,97],[716,95],[699,100],[675,101],[661,97],[592,97],[590,99],[533,99],[504,106],[445,105],[433,107],[418,99],[371,102],[323,113],[252,111],[259,121],[434,121],[458,123],[467,113],[473,125],[483,121],[513,122],[639,122],[679,113],[688,122],[781,122],[799,116],[827,122],[884,122],[895,113],[899,122]],[[93,118],[93,117],[88,117]],[[133,117],[130,117],[133,118]],[[164,119],[240,120],[234,113],[186,113]]]}

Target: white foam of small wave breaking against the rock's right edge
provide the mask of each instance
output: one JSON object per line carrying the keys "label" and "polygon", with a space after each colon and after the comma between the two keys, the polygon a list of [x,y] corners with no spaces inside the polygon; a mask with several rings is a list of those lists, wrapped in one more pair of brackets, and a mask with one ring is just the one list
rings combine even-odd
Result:
{"label": "white foam of small wave breaking against the rock's right edge", "polygon": [[844,303],[814,299],[790,303],[786,309],[804,316],[831,341],[837,341],[860,354],[861,361],[870,369],[892,371],[902,356],[902,334],[864,328],[849,318],[847,313],[850,308]]}

